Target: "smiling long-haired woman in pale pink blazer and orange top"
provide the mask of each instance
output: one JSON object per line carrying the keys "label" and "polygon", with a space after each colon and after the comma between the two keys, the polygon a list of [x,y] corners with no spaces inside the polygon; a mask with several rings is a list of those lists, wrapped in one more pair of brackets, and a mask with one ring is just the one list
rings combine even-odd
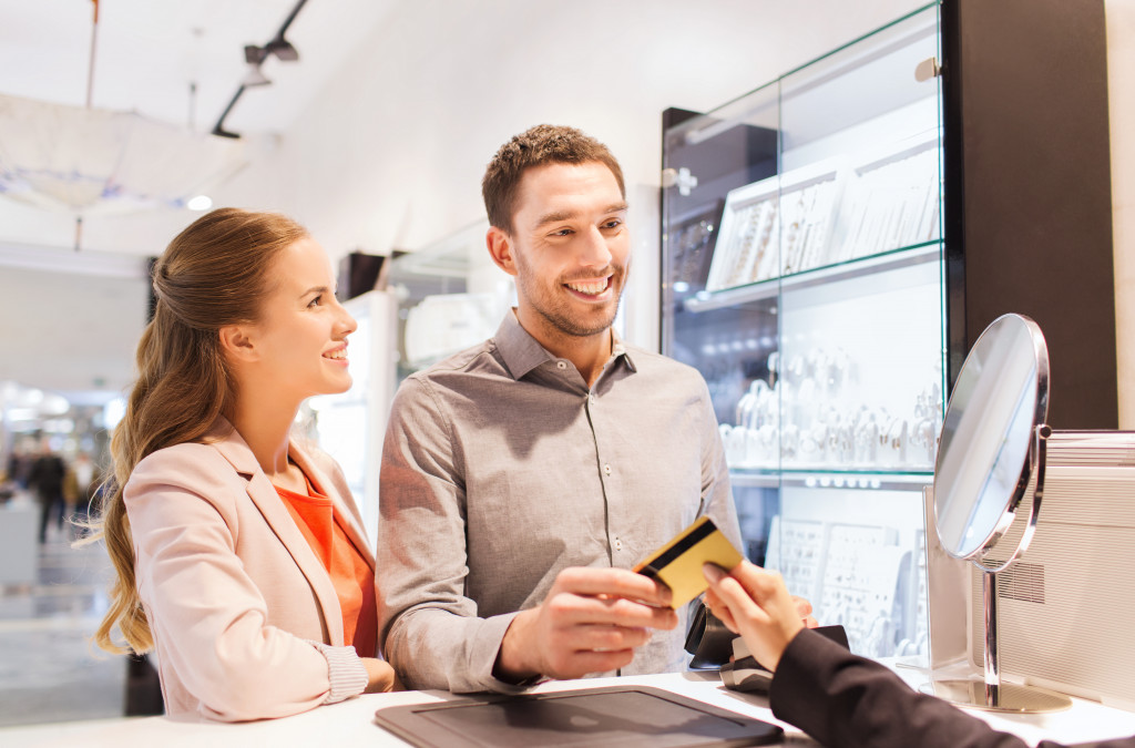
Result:
{"label": "smiling long-haired woman in pale pink blazer and orange top", "polygon": [[153,271],[96,537],[117,571],[95,640],[155,650],[166,713],[279,717],[390,690],[375,560],[346,482],[289,435],[351,386],[355,322],[288,218],[212,211]]}

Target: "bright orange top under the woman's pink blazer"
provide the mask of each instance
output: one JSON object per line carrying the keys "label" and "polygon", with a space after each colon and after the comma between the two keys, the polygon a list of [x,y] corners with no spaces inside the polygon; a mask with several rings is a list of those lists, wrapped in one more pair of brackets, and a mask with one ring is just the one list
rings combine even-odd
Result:
{"label": "bright orange top under the woman's pink blazer", "polygon": [[354,645],[360,657],[373,657],[378,652],[375,572],[343,529],[331,499],[317,491],[306,476],[304,480],[308,496],[279,486],[276,493],[331,577],[343,611],[343,641]]}

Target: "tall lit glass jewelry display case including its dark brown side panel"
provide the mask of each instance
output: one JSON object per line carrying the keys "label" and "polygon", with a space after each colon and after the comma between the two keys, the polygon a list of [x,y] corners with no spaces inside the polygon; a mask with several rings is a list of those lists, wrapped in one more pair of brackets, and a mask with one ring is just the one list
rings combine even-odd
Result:
{"label": "tall lit glass jewelry display case including its dark brown side panel", "polygon": [[941,0],[664,112],[663,352],[747,555],[860,654],[926,654],[922,488],[990,322],[1045,330],[1053,428],[1118,427],[1105,37],[1101,0]]}

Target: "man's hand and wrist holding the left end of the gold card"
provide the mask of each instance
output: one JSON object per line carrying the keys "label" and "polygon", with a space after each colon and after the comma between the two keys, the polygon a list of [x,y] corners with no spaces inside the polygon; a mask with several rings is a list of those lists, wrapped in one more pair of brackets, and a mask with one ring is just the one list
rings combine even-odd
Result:
{"label": "man's hand and wrist holding the left end of the gold card", "polygon": [[537,607],[513,619],[501,642],[494,675],[520,682],[617,670],[650,639],[650,629],[673,629],[671,594],[625,569],[564,569]]}

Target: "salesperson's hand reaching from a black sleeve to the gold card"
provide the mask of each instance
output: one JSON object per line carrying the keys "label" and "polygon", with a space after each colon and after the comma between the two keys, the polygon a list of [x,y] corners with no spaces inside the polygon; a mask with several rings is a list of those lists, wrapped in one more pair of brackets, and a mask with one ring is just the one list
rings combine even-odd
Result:
{"label": "salesperson's hand reaching from a black sleeve to the gold card", "polygon": [[784,648],[805,628],[784,580],[748,561],[728,573],[714,564],[705,564],[703,571],[709,582],[706,605],[730,631],[741,634],[757,662],[776,670]]}

